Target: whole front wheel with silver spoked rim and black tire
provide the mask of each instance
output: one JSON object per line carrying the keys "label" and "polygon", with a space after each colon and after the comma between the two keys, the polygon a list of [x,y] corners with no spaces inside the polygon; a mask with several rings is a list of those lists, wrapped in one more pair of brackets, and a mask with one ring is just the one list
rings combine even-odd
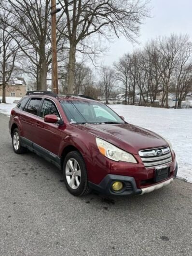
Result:
{"label": "whole front wheel with silver spoked rim and black tire", "polygon": [[82,155],[77,151],[70,152],[63,163],[64,182],[74,196],[83,196],[90,192],[87,170]]}

